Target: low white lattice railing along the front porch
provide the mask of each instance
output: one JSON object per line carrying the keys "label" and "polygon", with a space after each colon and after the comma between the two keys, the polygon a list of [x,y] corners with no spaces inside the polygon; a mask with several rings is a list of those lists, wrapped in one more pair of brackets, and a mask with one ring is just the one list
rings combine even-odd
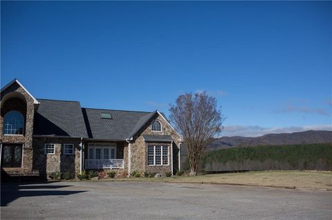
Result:
{"label": "low white lattice railing along the front porch", "polygon": [[124,168],[124,159],[86,159],[86,169],[118,169]]}

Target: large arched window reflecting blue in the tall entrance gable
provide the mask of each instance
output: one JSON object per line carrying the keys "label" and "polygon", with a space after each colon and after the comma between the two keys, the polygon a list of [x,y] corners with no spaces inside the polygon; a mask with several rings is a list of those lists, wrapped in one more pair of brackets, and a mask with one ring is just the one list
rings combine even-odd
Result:
{"label": "large arched window reflecting blue in the tall entrance gable", "polygon": [[24,117],[17,111],[10,111],[3,117],[3,134],[23,134]]}

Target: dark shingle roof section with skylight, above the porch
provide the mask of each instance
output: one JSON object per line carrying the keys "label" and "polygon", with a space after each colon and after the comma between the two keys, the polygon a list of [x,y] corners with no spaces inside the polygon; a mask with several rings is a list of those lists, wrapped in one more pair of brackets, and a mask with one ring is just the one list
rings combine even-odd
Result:
{"label": "dark shingle roof section with skylight, above the porch", "polygon": [[[131,138],[156,113],[95,108],[82,108],[82,112],[89,138],[113,140]],[[113,119],[102,119],[102,112],[110,113]]]}

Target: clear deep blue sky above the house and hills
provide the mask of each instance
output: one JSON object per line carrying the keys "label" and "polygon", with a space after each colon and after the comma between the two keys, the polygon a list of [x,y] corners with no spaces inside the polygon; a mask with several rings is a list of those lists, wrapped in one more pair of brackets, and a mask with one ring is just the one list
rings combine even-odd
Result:
{"label": "clear deep blue sky above the house and hills", "polygon": [[328,1],[1,1],[1,87],[167,115],[206,90],[223,135],[331,130],[331,27]]}

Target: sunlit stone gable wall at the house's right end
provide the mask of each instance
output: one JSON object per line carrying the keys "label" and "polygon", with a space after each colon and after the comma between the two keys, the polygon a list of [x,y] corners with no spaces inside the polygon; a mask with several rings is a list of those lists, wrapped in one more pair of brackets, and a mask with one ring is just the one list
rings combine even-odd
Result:
{"label": "sunlit stone gable wall at the house's right end", "polygon": [[[151,122],[154,120],[158,120],[161,123],[161,132],[153,132],[151,131]],[[180,137],[178,134],[169,126],[167,121],[160,117],[159,114],[155,114],[146,124],[143,126],[140,131],[133,137],[133,142],[131,143],[131,172],[133,170],[137,170],[140,172],[160,172],[165,174],[165,172],[172,172],[172,150],[170,149],[171,143],[155,143],[158,145],[169,146],[169,165],[168,166],[149,166],[147,163],[147,146],[149,143],[146,143],[142,137],[143,134],[151,134],[151,135],[170,135],[174,140],[172,145],[173,152],[178,152],[178,144],[180,143]],[[176,165],[178,161],[173,160],[174,168],[177,168]],[[173,169],[175,171],[175,169]]]}

